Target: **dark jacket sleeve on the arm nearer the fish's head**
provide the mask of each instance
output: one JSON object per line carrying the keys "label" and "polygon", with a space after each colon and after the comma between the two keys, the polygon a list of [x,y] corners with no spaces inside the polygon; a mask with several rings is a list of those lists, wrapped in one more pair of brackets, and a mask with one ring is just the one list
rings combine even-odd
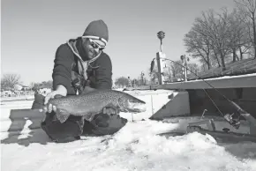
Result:
{"label": "dark jacket sleeve on the arm nearer the fish's head", "polygon": [[95,88],[111,89],[112,88],[112,63],[107,54],[101,56],[97,63],[100,67],[95,72]]}

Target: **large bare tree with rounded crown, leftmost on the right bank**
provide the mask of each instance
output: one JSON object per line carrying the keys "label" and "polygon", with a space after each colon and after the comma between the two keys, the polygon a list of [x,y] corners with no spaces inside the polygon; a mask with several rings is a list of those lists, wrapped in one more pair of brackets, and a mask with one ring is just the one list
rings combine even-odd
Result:
{"label": "large bare tree with rounded crown, leftmost on the right bank", "polygon": [[[225,70],[225,56],[230,54],[231,46],[237,45],[238,31],[241,29],[239,27],[238,31],[231,32],[231,21],[225,8],[222,13],[203,11],[201,17],[195,19],[191,31],[184,36],[187,52],[192,53],[194,58],[200,57],[200,62],[206,64],[208,70],[216,64]],[[235,51],[237,46],[233,49]]]}

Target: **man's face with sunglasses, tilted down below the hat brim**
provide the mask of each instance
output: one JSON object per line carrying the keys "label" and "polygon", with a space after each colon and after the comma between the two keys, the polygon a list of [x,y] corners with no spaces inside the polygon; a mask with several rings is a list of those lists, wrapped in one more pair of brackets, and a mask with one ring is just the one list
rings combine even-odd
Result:
{"label": "man's face with sunglasses, tilted down below the hat brim", "polygon": [[82,43],[89,59],[97,56],[101,51],[101,47],[104,47],[104,43],[100,40],[83,38]]}

